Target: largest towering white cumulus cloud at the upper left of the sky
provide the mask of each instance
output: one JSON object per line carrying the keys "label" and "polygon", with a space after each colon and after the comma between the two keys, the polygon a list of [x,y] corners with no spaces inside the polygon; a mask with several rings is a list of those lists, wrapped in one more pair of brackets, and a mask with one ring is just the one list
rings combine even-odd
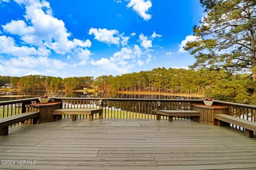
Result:
{"label": "largest towering white cumulus cloud at the upper left of the sky", "polygon": [[[91,46],[91,42],[88,39],[86,41],[78,39],[69,40],[71,33],[67,31],[62,20],[58,20],[52,16],[49,2],[41,2],[39,0],[15,0],[15,2],[25,5],[25,20],[12,20],[6,23],[6,25],[2,25],[2,27],[4,32],[18,35],[21,40],[20,43],[24,45],[19,47],[18,53],[6,51],[6,54],[15,56],[40,56],[42,49],[44,49],[47,51],[47,53],[44,52],[43,56],[45,56],[50,55],[50,50],[53,50],[57,54],[66,54],[74,53],[76,48],[87,48]],[[18,45],[13,43],[9,48],[12,47],[16,47],[17,49]],[[28,53],[28,49],[30,50],[30,54]]]}

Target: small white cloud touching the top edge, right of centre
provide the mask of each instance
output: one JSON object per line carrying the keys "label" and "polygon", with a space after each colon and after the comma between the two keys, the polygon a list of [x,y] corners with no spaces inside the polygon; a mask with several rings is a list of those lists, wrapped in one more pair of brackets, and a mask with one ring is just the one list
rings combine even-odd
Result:
{"label": "small white cloud touching the top edge, right of centre", "polygon": [[150,0],[130,0],[127,7],[132,7],[132,9],[146,21],[150,20],[152,17],[152,15],[146,13],[152,7]]}

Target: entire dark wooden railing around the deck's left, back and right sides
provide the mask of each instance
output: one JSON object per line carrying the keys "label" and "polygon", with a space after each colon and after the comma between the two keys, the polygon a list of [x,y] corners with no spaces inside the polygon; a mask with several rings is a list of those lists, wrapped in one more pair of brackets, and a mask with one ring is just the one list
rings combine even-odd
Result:
{"label": "entire dark wooden railing around the deck's left, back and right sides", "polygon": [[[51,98],[51,100],[62,101],[63,108],[102,107],[105,119],[155,119],[157,109],[189,110],[192,104],[203,104],[203,100],[180,99]],[[102,101],[101,105],[99,105],[99,101]],[[38,102],[38,98],[0,102],[0,117],[24,113],[26,112],[25,105],[35,102]],[[256,106],[222,101],[214,101],[214,105],[228,107],[229,115],[256,121]],[[84,117],[81,116],[81,118]],[[161,119],[167,119],[167,117]],[[189,119],[189,117],[176,117],[175,119]],[[233,127],[240,128],[236,125]]]}

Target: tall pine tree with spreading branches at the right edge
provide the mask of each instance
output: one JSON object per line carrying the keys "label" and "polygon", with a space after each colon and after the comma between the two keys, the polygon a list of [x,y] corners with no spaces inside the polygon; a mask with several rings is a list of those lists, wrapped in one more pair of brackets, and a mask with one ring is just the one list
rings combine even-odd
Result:
{"label": "tall pine tree with spreading branches at the right edge", "polygon": [[256,82],[256,0],[200,0],[200,3],[206,16],[194,26],[196,40],[185,47],[196,58],[191,67],[250,71]]}

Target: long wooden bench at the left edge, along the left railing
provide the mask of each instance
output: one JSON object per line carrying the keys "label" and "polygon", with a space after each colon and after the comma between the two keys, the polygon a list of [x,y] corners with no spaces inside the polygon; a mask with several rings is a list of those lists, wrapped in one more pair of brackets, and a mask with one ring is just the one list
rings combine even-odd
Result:
{"label": "long wooden bench at the left edge, along the left railing", "polygon": [[12,115],[0,119],[0,135],[8,135],[8,129],[10,125],[26,121],[30,119],[30,124],[36,124],[39,111],[31,111],[26,113],[20,113],[18,115]]}

